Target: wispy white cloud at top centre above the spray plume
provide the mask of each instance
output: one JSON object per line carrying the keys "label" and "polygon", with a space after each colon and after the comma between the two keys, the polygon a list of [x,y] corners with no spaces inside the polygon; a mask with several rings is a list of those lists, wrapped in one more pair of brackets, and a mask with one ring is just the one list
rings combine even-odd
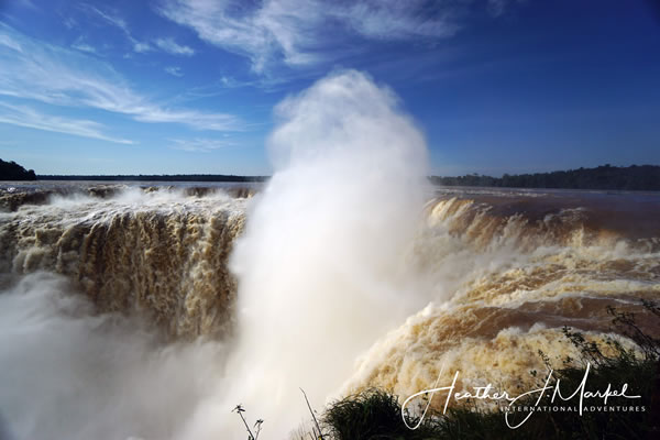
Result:
{"label": "wispy white cloud at top centre above the spray plume", "polygon": [[201,40],[248,56],[255,72],[264,72],[275,59],[289,66],[327,61],[330,47],[342,44],[451,36],[461,29],[461,18],[471,3],[264,0],[246,6],[232,0],[162,0],[157,11],[193,29]]}

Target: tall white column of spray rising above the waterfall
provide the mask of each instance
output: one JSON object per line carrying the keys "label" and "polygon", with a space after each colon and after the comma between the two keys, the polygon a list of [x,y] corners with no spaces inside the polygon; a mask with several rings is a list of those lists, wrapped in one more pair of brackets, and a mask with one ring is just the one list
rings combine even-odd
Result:
{"label": "tall white column of spray rising above the waterfall", "polygon": [[[199,418],[241,402],[278,438],[304,417],[299,387],[322,405],[356,356],[418,308],[404,272],[426,146],[393,94],[356,72],[320,80],[276,116],[276,172],[231,262],[239,327],[223,405]],[[190,437],[211,438],[205,428],[194,422]]]}

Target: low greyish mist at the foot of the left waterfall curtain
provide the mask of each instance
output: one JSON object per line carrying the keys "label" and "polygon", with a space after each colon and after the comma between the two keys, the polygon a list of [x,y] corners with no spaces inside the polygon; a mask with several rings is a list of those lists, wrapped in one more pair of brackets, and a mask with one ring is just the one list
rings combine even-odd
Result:
{"label": "low greyish mist at the foot of the left waterfall curtain", "polygon": [[36,273],[0,294],[0,438],[172,438],[218,380],[223,345],[164,344],[70,293]]}

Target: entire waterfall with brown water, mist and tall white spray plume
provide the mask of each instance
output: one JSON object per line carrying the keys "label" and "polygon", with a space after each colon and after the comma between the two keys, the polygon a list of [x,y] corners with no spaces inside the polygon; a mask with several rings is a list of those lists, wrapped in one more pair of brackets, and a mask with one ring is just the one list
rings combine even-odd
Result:
{"label": "entire waterfall with brown water, mist and tall white spray plume", "polygon": [[276,116],[263,187],[0,187],[0,437],[287,438],[299,387],[513,388],[660,297],[658,194],[431,188],[354,72]]}

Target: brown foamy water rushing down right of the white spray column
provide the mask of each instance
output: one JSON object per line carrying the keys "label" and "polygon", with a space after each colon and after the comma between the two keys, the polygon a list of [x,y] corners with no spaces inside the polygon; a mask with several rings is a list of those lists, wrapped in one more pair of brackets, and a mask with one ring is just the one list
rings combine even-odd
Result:
{"label": "brown foamy water rushing down right of the white spray column", "polygon": [[[380,386],[409,396],[432,388],[439,376],[451,383],[457,371],[459,387],[514,389],[530,382],[530,371],[546,371],[539,350],[557,365],[578,356],[563,326],[596,341],[615,337],[608,306],[638,314],[640,324],[658,331],[639,306],[660,298],[658,230],[640,237],[634,220],[604,219],[593,199],[603,194],[583,194],[583,207],[560,209],[565,195],[490,193],[492,204],[474,194],[428,204],[415,257],[437,299],[363,356],[344,393]],[[543,196],[554,198],[539,201]],[[622,211],[640,204],[657,209],[657,195],[634,197],[612,199]],[[546,211],[497,209],[512,204]]]}

